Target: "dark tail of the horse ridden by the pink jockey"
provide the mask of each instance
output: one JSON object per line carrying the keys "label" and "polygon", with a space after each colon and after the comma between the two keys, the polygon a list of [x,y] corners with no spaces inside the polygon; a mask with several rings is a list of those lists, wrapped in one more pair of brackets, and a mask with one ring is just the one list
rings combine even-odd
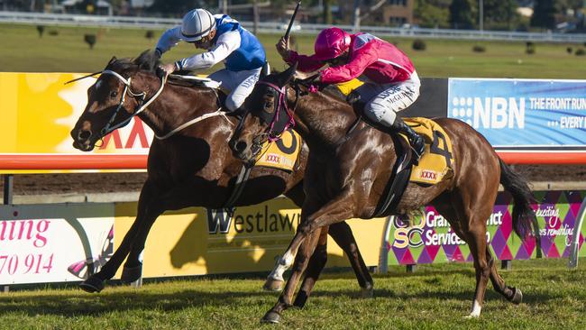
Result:
{"label": "dark tail of the horse ridden by the pink jockey", "polygon": [[[513,230],[521,238],[531,233],[531,224],[537,224],[536,213],[531,207],[535,200],[526,180],[511,170],[504,161],[500,162],[500,183],[513,195]],[[537,228],[536,228],[537,230]]]}

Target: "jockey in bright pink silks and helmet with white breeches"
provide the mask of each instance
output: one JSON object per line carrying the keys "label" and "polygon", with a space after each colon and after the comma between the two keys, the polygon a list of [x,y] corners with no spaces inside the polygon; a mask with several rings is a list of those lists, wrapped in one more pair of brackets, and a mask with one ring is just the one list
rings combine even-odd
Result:
{"label": "jockey in bright pink silks and helmet with white breeches", "polygon": [[393,44],[369,33],[349,34],[337,27],[325,29],[316,38],[311,56],[289,50],[282,37],[277,51],[288,64],[298,62],[298,70],[320,71],[316,82],[339,84],[359,78],[365,82],[353,91],[364,103],[364,114],[383,127],[386,133],[407,136],[417,160],[425,150],[424,139],[409,127],[397,113],[412,105],[419,96],[421,83],[411,60]]}

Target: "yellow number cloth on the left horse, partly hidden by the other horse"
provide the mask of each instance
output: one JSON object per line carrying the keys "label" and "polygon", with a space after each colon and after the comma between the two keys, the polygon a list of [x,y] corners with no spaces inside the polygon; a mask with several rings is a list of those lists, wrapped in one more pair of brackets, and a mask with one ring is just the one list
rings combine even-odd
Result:
{"label": "yellow number cloth on the left horse, partly hidden by the other horse", "polygon": [[298,160],[302,144],[301,136],[289,128],[276,142],[264,142],[255,165],[291,171]]}

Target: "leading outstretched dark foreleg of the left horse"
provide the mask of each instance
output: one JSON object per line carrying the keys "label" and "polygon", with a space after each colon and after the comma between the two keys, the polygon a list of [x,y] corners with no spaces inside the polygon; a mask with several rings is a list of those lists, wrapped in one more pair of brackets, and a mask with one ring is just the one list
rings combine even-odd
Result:
{"label": "leading outstretched dark foreleg of the left horse", "polygon": [[139,197],[138,202],[138,211],[133,225],[124,235],[122,242],[112,255],[112,258],[110,258],[110,260],[108,260],[101,270],[96,272],[96,274],[91,275],[87,280],[81,282],[81,284],[79,284],[80,289],[87,292],[99,292],[104,289],[105,280],[110,280],[114,277],[116,271],[120,268],[120,265],[122,265],[124,258],[126,258],[128,252],[130,252],[136,234],[139,232],[139,228],[145,221],[147,221],[148,206],[151,203],[151,198],[154,193],[152,184],[147,180],[142,186],[141,197]]}

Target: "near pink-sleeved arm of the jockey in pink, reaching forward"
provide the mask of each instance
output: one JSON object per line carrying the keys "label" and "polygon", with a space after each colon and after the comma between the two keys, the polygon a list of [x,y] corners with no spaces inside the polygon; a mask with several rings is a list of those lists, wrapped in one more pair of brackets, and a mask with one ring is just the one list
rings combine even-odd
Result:
{"label": "near pink-sleeved arm of the jockey in pink, reaching forward", "polygon": [[354,50],[348,63],[339,67],[324,69],[320,80],[325,84],[338,84],[350,81],[362,75],[364,69],[379,60],[378,53],[372,44],[366,44],[358,50]]}

